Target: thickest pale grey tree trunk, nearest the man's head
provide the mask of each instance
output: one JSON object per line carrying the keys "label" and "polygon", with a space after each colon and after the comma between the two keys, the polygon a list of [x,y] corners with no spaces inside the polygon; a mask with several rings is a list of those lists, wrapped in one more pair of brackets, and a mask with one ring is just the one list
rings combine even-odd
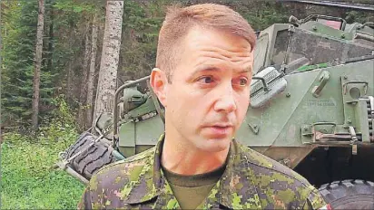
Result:
{"label": "thickest pale grey tree trunk, nearest the man's head", "polygon": [[103,52],[97,82],[94,119],[100,113],[112,112],[116,89],[118,58],[121,47],[123,1],[107,1]]}

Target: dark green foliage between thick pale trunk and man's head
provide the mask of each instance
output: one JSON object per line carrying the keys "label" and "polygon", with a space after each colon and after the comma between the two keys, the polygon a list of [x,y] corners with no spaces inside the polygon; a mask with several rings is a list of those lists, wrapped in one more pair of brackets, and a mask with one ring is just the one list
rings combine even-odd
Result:
{"label": "dark green foliage between thick pale trunk and man's head", "polygon": [[125,1],[123,7],[123,80],[143,77],[151,72],[156,58],[158,32],[164,6],[172,1],[153,1],[141,5]]}

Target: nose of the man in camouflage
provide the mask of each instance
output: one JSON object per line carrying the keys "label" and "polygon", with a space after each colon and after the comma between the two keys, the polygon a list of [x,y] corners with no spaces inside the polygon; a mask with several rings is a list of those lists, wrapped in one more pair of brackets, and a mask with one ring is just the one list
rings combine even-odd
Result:
{"label": "nose of the man in camouflage", "polygon": [[232,90],[231,84],[226,85],[225,87],[221,88],[221,90],[217,91],[219,91],[221,94],[219,94],[219,97],[214,104],[214,110],[225,111],[227,113],[236,110],[234,91]]}

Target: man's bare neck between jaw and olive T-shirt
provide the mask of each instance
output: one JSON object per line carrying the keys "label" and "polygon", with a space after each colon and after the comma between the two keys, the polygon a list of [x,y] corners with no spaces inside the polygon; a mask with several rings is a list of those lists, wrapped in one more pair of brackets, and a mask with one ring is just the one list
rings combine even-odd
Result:
{"label": "man's bare neck between jaw and olive T-shirt", "polygon": [[197,175],[221,167],[229,148],[219,152],[207,152],[188,144],[187,140],[168,138],[165,135],[162,147],[162,166],[180,175]]}

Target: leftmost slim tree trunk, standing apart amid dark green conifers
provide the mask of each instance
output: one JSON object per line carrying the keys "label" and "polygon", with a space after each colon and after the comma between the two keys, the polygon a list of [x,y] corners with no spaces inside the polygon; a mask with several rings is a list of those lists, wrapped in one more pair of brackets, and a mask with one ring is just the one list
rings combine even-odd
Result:
{"label": "leftmost slim tree trunk, standing apart amid dark green conifers", "polygon": [[33,81],[33,129],[37,129],[39,116],[39,93],[40,93],[40,68],[43,52],[43,31],[44,31],[44,0],[39,0],[39,13],[36,29],[36,50],[34,57],[34,81]]}

